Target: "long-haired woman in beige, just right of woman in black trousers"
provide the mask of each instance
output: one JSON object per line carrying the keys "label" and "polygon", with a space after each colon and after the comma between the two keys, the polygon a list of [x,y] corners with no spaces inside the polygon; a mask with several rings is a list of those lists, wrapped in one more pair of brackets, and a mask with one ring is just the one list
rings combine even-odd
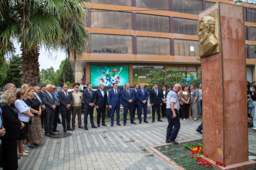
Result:
{"label": "long-haired woman in beige, just right of woman in black trousers", "polygon": [[192,84],[190,86],[190,103],[192,107],[193,120],[197,120],[198,118],[198,99],[199,99],[199,90],[197,89],[197,85]]}

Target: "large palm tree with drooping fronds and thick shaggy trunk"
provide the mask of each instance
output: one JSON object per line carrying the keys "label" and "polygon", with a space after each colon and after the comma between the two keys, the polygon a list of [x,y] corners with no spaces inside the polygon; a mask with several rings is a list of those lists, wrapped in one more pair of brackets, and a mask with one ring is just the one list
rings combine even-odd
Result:
{"label": "large palm tree with drooping fronds and thick shaggy trunk", "polygon": [[68,57],[87,48],[85,2],[88,0],[1,0],[0,57],[12,52],[13,39],[21,43],[22,84],[40,84],[40,46],[64,49]]}

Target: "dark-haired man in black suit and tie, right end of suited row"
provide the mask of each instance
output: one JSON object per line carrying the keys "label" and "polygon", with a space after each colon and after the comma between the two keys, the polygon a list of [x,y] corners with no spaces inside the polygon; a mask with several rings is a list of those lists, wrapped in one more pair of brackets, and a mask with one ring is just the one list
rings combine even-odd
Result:
{"label": "dark-haired man in black suit and tie, right end of suited row", "polygon": [[154,88],[150,90],[150,104],[152,107],[152,122],[155,122],[155,115],[157,109],[158,121],[162,122],[160,116],[160,106],[162,105],[162,99],[160,95],[160,90],[158,89],[158,85],[155,83]]}

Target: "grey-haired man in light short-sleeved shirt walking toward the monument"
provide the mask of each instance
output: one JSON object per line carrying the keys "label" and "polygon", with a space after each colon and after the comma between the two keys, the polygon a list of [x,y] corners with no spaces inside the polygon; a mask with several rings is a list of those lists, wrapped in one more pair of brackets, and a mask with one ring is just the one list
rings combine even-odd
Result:
{"label": "grey-haired man in light short-sleeved shirt walking toward the monument", "polygon": [[179,133],[180,130],[180,118],[178,114],[178,110],[180,108],[179,104],[179,97],[177,96],[177,92],[180,92],[180,89],[182,88],[182,85],[175,84],[173,86],[173,89],[168,92],[167,95],[167,120],[168,120],[168,126],[167,126],[167,136],[166,136],[166,143],[174,143],[177,144],[177,141],[175,141],[177,137],[177,133]]}

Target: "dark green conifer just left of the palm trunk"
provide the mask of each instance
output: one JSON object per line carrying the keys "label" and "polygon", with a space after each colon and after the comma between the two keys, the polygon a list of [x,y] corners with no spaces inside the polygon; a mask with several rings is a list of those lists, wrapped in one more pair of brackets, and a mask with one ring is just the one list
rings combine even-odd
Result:
{"label": "dark green conifer just left of the palm trunk", "polygon": [[12,82],[15,86],[21,86],[21,56],[15,55],[10,59],[10,63],[8,66],[7,76],[5,79],[5,84],[8,82]]}

